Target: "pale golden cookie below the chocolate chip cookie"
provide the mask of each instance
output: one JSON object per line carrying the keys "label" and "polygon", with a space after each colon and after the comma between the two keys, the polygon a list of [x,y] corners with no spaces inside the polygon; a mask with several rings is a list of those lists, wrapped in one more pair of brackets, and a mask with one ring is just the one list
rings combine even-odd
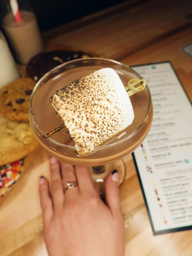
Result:
{"label": "pale golden cookie below the chocolate chip cookie", "polygon": [[29,122],[12,121],[0,115],[0,165],[28,156],[38,148]]}

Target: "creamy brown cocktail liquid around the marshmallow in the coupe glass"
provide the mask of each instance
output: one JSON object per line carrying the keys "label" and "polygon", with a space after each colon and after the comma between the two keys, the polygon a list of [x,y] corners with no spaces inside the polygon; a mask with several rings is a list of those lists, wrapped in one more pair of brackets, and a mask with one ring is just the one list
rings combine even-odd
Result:
{"label": "creamy brown cocktail liquid around the marshmallow in the coupe glass", "polygon": [[[70,137],[70,134],[67,132],[68,130],[66,128],[52,135],[50,137],[51,139],[42,138],[42,135],[47,134],[48,132],[52,131],[63,123],[62,119],[58,117],[54,107],[50,103],[49,99],[51,95],[54,94],[56,90],[61,89],[63,86],[71,83],[72,81],[80,77],[84,77],[101,68],[103,67],[79,67],[75,70],[69,70],[67,72],[61,73],[58,75],[58,77],[47,81],[46,84],[43,85],[43,87],[38,91],[38,93],[34,94],[32,103],[33,116],[36,120],[36,123],[38,124],[38,127],[43,132],[43,134],[41,134],[40,132],[38,132],[38,134],[35,133],[35,136],[38,139],[40,145],[43,146],[50,155],[74,165],[104,165],[111,163],[117,159],[121,159],[126,155],[132,153],[146,137],[151,127],[153,109],[151,107],[149,115],[147,115],[149,110],[149,97],[147,91],[144,90],[130,97],[134,108],[133,123],[113,138],[96,147],[96,150],[93,150],[88,155],[77,155],[75,149],[62,147],[57,145],[56,143],[53,143],[52,140],[75,147],[75,142]],[[118,73],[124,86],[127,86],[127,82],[132,79],[132,77],[128,74],[118,72],[118,70],[115,71]],[[137,128],[141,125],[144,119],[148,121],[145,122],[140,127],[140,129],[137,130]],[[32,121],[31,127],[32,129],[34,129]],[[135,130],[137,130],[137,132],[135,132],[135,134],[131,138],[125,140],[124,142],[120,142],[123,138],[129,136]],[[114,143],[115,145],[112,145]],[[109,147],[102,148],[102,146],[105,145],[109,145]]]}

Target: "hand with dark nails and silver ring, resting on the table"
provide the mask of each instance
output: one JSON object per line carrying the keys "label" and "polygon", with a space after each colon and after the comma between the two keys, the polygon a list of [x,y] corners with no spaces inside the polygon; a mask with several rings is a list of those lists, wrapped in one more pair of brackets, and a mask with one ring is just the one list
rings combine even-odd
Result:
{"label": "hand with dark nails and silver ring, resting on the table", "polygon": [[[51,195],[40,177],[44,238],[49,256],[123,256],[124,221],[118,173],[105,183],[106,204],[98,196],[87,167],[50,158]],[[78,186],[67,189],[67,182]],[[64,191],[64,193],[63,193]]]}

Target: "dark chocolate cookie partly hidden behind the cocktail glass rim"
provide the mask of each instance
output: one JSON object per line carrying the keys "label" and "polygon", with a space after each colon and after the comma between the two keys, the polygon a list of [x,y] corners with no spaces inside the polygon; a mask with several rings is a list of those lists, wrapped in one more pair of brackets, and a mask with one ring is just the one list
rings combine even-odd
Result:
{"label": "dark chocolate cookie partly hidden behind the cocktail glass rim", "polygon": [[51,51],[39,53],[27,64],[27,74],[34,81],[38,81],[48,71],[56,66],[74,59],[90,58],[89,54],[78,51]]}

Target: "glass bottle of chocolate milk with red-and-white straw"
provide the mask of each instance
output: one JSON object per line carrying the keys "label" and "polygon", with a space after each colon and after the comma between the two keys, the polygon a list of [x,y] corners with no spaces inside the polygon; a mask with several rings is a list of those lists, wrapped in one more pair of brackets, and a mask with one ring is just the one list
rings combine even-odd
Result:
{"label": "glass bottle of chocolate milk with red-and-white straw", "polygon": [[26,0],[0,0],[1,26],[15,59],[26,65],[43,52],[36,16]]}

